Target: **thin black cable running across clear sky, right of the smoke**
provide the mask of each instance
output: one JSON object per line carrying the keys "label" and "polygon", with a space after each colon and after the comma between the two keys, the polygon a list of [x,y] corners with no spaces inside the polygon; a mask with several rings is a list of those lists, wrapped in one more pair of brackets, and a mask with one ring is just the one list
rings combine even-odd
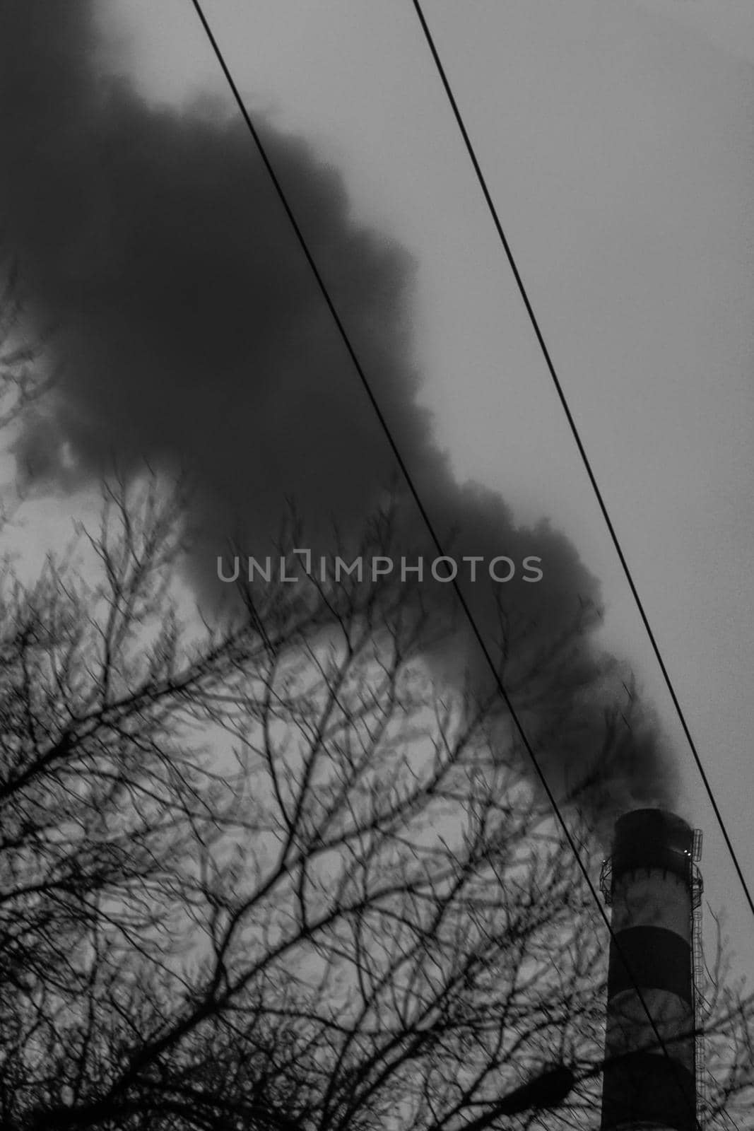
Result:
{"label": "thin black cable running across clear sky, right of the smoke", "polygon": [[734,862],[736,872],[738,873],[738,879],[740,881],[742,888],[744,889],[744,895],[746,896],[746,901],[747,901],[747,904],[748,904],[748,906],[751,908],[752,915],[754,915],[754,898],[752,897],[752,892],[749,891],[749,888],[748,888],[748,884],[746,882],[746,878],[744,877],[740,863],[738,862],[738,856],[736,855],[736,851],[735,851],[735,848],[733,846],[733,841],[730,839],[730,836],[728,835],[728,830],[726,828],[726,823],[725,823],[725,821],[722,819],[722,813],[720,812],[720,809],[718,808],[718,803],[717,803],[717,801],[714,798],[714,794],[712,792],[712,786],[710,785],[709,778],[708,778],[707,772],[704,770],[704,766],[702,765],[702,759],[700,758],[699,751],[696,750],[696,743],[694,742],[694,740],[692,737],[692,734],[691,734],[691,731],[688,728],[688,724],[686,723],[686,717],[685,717],[685,715],[683,713],[683,709],[681,707],[681,702],[678,700],[678,697],[676,694],[675,688],[673,685],[673,681],[670,680],[670,675],[668,673],[668,670],[667,670],[667,667],[665,665],[665,661],[662,659],[662,655],[660,653],[659,646],[658,646],[657,640],[655,638],[655,633],[652,632],[651,625],[649,623],[649,619],[648,619],[647,613],[644,611],[643,603],[641,601],[641,597],[639,596],[639,590],[636,589],[636,586],[635,586],[634,580],[633,580],[633,576],[632,576],[631,570],[629,568],[629,563],[627,563],[627,561],[625,559],[625,554],[623,553],[623,550],[621,547],[621,543],[618,541],[618,536],[615,533],[615,527],[613,526],[613,521],[610,519],[609,512],[608,512],[607,507],[605,504],[605,500],[603,498],[603,493],[601,493],[601,491],[599,489],[599,485],[597,483],[597,480],[595,477],[595,473],[593,473],[593,470],[591,468],[591,464],[589,463],[589,457],[587,456],[587,451],[586,451],[586,448],[583,446],[583,441],[581,440],[581,435],[579,434],[579,430],[578,430],[575,421],[573,418],[573,414],[571,413],[571,409],[569,407],[569,403],[567,403],[567,400],[565,398],[565,394],[563,391],[563,386],[561,385],[560,378],[558,378],[557,373],[555,372],[555,366],[553,365],[553,361],[552,361],[552,357],[549,355],[549,351],[548,351],[547,345],[545,343],[545,338],[543,336],[543,333],[541,333],[541,330],[539,328],[539,322],[537,321],[537,317],[536,317],[536,314],[534,312],[534,308],[532,308],[531,302],[529,300],[529,295],[527,294],[526,287],[523,286],[523,280],[521,278],[521,275],[519,273],[518,266],[517,266],[515,260],[513,258],[513,253],[511,251],[510,244],[509,244],[508,239],[505,236],[505,232],[503,231],[503,226],[502,226],[502,224],[500,222],[500,217],[497,215],[497,209],[495,208],[495,205],[493,204],[493,199],[492,199],[492,197],[489,195],[489,190],[487,188],[487,182],[485,181],[484,174],[482,172],[482,167],[479,165],[479,162],[477,161],[477,156],[476,156],[476,153],[474,150],[474,146],[471,145],[471,140],[469,138],[468,131],[466,129],[466,126],[463,124],[463,119],[461,116],[460,110],[458,109],[458,103],[456,102],[456,98],[453,96],[452,88],[450,86],[450,83],[448,80],[448,76],[445,74],[445,69],[442,66],[442,62],[440,60],[440,55],[437,53],[437,49],[436,49],[434,40],[432,37],[432,33],[430,32],[430,28],[427,26],[427,21],[424,18],[424,12],[422,11],[422,5],[419,3],[419,0],[411,0],[411,2],[413,2],[414,8],[416,10],[416,15],[418,17],[418,20],[419,20],[419,23],[422,25],[422,31],[424,32],[424,37],[426,40],[427,46],[430,48],[430,51],[432,53],[432,58],[434,59],[434,63],[435,63],[435,67],[437,69],[437,74],[440,75],[440,78],[442,80],[442,85],[445,88],[445,94],[448,95],[448,101],[450,102],[450,105],[452,107],[453,115],[456,118],[456,122],[458,124],[458,128],[461,131],[461,136],[462,136],[463,143],[466,145],[466,150],[467,150],[467,153],[469,155],[471,164],[474,165],[474,172],[477,175],[477,180],[479,182],[479,188],[482,189],[482,192],[484,195],[484,199],[485,199],[487,208],[489,210],[489,215],[492,216],[492,219],[493,219],[493,223],[495,225],[495,228],[497,230],[497,235],[500,238],[500,242],[503,245],[503,250],[504,250],[505,256],[508,258],[508,262],[509,262],[509,265],[511,267],[511,270],[513,273],[513,277],[515,278],[515,283],[518,285],[519,293],[521,295],[521,299],[523,300],[523,305],[526,307],[527,313],[529,316],[529,320],[531,321],[531,326],[534,328],[535,335],[537,337],[537,342],[539,343],[539,347],[541,349],[543,356],[544,356],[545,362],[547,364],[547,369],[548,369],[549,375],[551,375],[551,378],[553,380],[553,385],[555,386],[555,389],[557,391],[557,396],[560,398],[561,405],[563,406],[563,412],[565,413],[566,420],[567,420],[569,425],[571,428],[571,434],[573,435],[573,439],[575,441],[577,448],[579,449],[579,455],[581,456],[581,461],[583,463],[583,466],[584,466],[584,468],[587,470],[587,475],[589,476],[589,482],[591,483],[592,490],[593,490],[595,495],[597,498],[597,502],[599,503],[599,509],[603,512],[603,518],[605,519],[605,523],[607,525],[607,529],[609,530],[610,538],[613,539],[613,545],[615,546],[615,552],[617,553],[618,560],[621,562],[621,566],[623,567],[623,572],[625,573],[626,580],[627,580],[629,586],[631,588],[631,593],[632,593],[633,598],[634,598],[634,601],[636,603],[636,607],[639,610],[639,614],[641,616],[641,620],[642,620],[642,623],[644,625],[644,629],[647,630],[647,636],[649,637],[649,641],[650,641],[650,644],[652,646],[652,650],[655,653],[655,657],[657,659],[657,663],[659,664],[660,671],[662,673],[662,677],[665,679],[665,684],[666,684],[666,687],[668,689],[668,692],[670,694],[670,699],[673,700],[673,706],[675,707],[675,709],[677,711],[678,718],[681,719],[681,725],[683,727],[684,735],[686,736],[686,741],[688,742],[688,746],[691,748],[691,752],[694,756],[694,761],[696,762],[696,768],[699,769],[699,772],[701,775],[702,782],[704,784],[704,788],[707,791],[707,796],[710,800],[710,804],[712,805],[712,810],[713,810],[714,815],[717,818],[717,822],[718,822],[718,824],[720,827],[720,831],[722,832],[726,846],[728,848],[728,852],[730,853],[730,857],[731,857],[731,860]]}

